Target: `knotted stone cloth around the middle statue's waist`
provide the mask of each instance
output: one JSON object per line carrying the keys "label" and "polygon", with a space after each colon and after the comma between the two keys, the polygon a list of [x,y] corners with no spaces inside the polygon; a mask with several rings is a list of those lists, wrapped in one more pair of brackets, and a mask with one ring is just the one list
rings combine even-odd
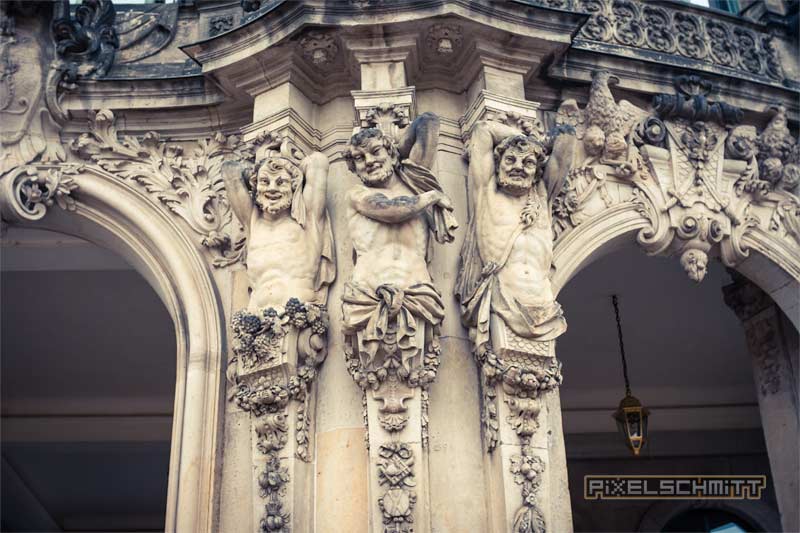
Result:
{"label": "knotted stone cloth around the middle statue's waist", "polygon": [[[414,341],[425,325],[438,326],[444,319],[442,296],[431,283],[417,283],[400,289],[381,285],[374,291],[363,285],[348,282],[342,297],[343,329],[355,335],[361,363],[368,366],[386,338],[390,321],[395,321],[397,346],[406,369],[411,359],[423,348]],[[420,329],[423,328],[423,329]]]}

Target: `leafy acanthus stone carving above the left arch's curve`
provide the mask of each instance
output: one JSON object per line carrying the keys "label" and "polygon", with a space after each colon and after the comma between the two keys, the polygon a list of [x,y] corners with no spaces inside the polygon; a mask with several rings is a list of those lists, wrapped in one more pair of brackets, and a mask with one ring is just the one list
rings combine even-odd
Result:
{"label": "leafy acanthus stone carving above the left arch's curve", "polygon": [[93,114],[90,133],[72,141],[70,149],[114,176],[143,185],[198,235],[214,255],[215,267],[242,260],[244,236],[234,231],[220,169],[226,159],[251,159],[249,147],[237,136],[218,133],[197,141],[190,151],[155,132],[141,139],[120,136],[115,122],[109,110]]}

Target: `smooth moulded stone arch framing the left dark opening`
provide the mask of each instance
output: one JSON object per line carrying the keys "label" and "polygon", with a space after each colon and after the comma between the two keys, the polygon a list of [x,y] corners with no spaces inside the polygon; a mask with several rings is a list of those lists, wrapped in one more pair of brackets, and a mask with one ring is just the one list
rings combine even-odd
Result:
{"label": "smooth moulded stone arch framing the left dark opening", "polygon": [[[38,170],[47,170],[44,167]],[[207,262],[175,219],[135,185],[91,167],[73,177],[75,211],[51,207],[46,215],[40,210],[35,216],[20,216],[24,213],[14,208],[16,197],[6,186],[0,191],[4,217],[20,226],[75,235],[114,251],[164,302],[177,340],[165,529],[211,531],[216,512],[224,328]]]}

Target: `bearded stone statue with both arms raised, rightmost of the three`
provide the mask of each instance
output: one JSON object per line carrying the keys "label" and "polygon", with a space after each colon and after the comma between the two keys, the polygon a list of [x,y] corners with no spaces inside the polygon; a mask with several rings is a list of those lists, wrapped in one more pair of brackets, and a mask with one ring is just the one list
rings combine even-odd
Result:
{"label": "bearded stone statue with both arms raised, rightmost of the three", "polygon": [[473,212],[456,295],[479,351],[490,342],[490,322],[494,348],[501,351],[524,346],[517,338],[550,341],[566,331],[550,287],[550,205],[572,164],[575,143],[574,135],[559,135],[547,158],[541,141],[502,122],[482,121],[473,129]]}

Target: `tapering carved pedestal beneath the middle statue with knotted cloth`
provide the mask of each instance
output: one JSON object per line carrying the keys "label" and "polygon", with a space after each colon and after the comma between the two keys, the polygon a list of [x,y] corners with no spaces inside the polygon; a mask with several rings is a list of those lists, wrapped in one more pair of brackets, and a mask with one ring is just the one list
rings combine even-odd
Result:
{"label": "tapering carved pedestal beneath the middle statue with knotted cloth", "polygon": [[365,350],[364,332],[348,335],[345,357],[364,389],[370,505],[377,506],[370,512],[370,530],[420,533],[431,528],[427,387],[441,350],[436,327],[425,325],[398,338],[397,321],[389,319],[373,356]]}

